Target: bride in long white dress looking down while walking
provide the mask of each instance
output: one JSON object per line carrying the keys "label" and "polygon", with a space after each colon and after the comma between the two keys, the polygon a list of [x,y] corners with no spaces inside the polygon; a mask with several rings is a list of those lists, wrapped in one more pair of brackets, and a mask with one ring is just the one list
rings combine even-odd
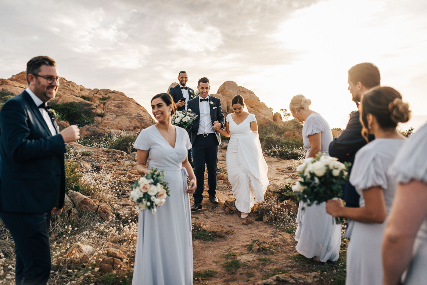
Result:
{"label": "bride in long white dress looking down while walking", "polygon": [[255,204],[264,201],[270,183],[267,178],[268,166],[258,137],[257,119],[254,114],[249,114],[241,95],[234,96],[231,105],[234,113],[225,118],[226,129],[214,129],[225,137],[231,136],[225,162],[228,181],[236,198],[236,208],[244,219]]}

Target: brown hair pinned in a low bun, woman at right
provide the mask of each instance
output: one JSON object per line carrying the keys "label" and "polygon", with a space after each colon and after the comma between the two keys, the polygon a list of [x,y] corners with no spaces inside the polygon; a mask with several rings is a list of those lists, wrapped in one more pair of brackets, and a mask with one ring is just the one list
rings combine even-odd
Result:
{"label": "brown hair pinned in a low bun, woman at right", "polygon": [[402,101],[397,90],[387,86],[374,87],[362,96],[360,118],[363,136],[369,134],[368,114],[372,114],[383,129],[395,128],[398,123],[406,123],[411,118],[409,104]]}

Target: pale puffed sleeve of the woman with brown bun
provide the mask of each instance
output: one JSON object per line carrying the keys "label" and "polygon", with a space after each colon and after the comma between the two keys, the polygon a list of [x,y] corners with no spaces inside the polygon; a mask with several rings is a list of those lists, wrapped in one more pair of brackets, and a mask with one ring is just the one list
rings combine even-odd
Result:
{"label": "pale puffed sleeve of the woman with brown bun", "polygon": [[350,183],[354,185],[359,194],[363,190],[380,186],[387,188],[387,165],[380,159],[374,150],[363,147],[354,159],[351,168]]}

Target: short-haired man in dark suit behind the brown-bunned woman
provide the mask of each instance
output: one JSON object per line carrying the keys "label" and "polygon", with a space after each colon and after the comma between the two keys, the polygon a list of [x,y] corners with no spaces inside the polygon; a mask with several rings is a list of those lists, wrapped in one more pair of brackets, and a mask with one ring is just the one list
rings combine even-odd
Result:
{"label": "short-haired man in dark suit behind the brown-bunned woman", "polygon": [[[380,71],[377,66],[369,62],[354,65],[348,70],[348,90],[357,107],[359,107],[363,93],[380,85],[380,79]],[[374,137],[369,136],[369,140],[371,141],[372,139]],[[347,127],[342,131],[341,135],[338,138],[334,138],[329,144],[329,155],[338,158],[339,162],[351,162],[353,164],[356,152],[365,144],[366,140],[362,136],[359,111],[356,111],[351,115]],[[351,167],[348,170],[348,177],[350,177],[350,172]],[[346,206],[359,207],[360,195],[357,194],[356,189],[348,179],[345,181],[342,190]]]}

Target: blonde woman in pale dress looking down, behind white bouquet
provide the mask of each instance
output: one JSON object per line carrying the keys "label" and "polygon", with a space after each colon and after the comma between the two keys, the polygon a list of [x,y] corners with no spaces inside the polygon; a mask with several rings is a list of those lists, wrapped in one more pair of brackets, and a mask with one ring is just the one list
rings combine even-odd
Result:
{"label": "blonde woman in pale dress looking down, behind white bouquet", "polygon": [[[289,104],[294,118],[305,122],[302,127],[304,148],[307,150],[305,159],[315,157],[317,153],[329,155],[329,144],[332,131],[329,124],[319,113],[310,110],[311,100],[303,95],[296,95]],[[299,203],[295,249],[298,253],[314,261],[337,261],[341,244],[341,225],[332,222],[326,213],[325,202],[320,205],[307,206]]]}

